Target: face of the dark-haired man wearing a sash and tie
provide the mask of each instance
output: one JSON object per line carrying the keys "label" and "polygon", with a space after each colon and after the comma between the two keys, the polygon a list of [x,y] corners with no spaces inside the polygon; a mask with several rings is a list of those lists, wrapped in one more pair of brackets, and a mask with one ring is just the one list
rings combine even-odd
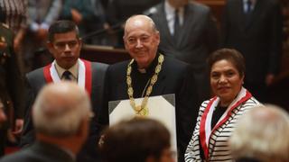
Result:
{"label": "face of the dark-haired man wearing a sash and tie", "polygon": [[82,42],[77,37],[76,31],[56,33],[54,40],[47,44],[57,64],[69,69],[79,58]]}

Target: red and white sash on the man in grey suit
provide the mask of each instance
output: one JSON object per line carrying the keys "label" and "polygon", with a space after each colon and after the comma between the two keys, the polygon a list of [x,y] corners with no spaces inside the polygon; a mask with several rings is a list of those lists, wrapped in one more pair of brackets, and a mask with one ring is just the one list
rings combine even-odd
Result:
{"label": "red and white sash on the man in grey suit", "polygon": [[[78,85],[86,89],[91,94],[91,84],[92,84],[92,72],[91,72],[91,62],[79,59],[79,76],[78,76]],[[43,67],[43,75],[47,83],[57,83],[61,81],[61,77],[58,76],[58,73],[55,68],[55,60]]]}

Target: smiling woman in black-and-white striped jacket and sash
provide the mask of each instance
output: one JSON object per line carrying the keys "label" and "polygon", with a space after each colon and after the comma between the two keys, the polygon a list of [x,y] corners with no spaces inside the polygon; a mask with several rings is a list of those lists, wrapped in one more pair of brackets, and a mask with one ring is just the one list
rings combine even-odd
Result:
{"label": "smiling woman in black-and-white striped jacket and sash", "polygon": [[185,161],[232,161],[228,139],[238,118],[260,104],[244,88],[245,61],[235,49],[213,52],[208,64],[215,97],[201,103]]}

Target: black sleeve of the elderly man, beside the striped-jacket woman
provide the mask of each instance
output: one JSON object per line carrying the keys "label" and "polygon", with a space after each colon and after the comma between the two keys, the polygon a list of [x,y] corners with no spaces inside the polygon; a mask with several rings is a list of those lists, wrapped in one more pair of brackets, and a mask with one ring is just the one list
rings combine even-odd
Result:
{"label": "black sleeve of the elderly man, beside the striped-jacket woman", "polygon": [[184,153],[191,139],[192,131],[196,125],[200,105],[197,94],[196,83],[192,76],[191,66],[187,66],[183,72],[182,86],[176,98],[178,109],[177,114],[177,131],[179,161],[184,161]]}

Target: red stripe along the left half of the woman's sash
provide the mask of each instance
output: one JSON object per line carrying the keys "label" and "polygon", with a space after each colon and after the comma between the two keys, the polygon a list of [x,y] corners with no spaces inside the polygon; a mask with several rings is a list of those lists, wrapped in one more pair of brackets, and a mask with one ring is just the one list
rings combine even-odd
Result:
{"label": "red stripe along the left half of the woman's sash", "polygon": [[206,120],[207,120],[207,115],[210,111],[211,104],[214,103],[216,99],[217,99],[217,96],[215,96],[213,99],[210,100],[210,103],[208,103],[200,119],[200,144],[204,151],[206,159],[209,159],[209,148],[206,144]]}

